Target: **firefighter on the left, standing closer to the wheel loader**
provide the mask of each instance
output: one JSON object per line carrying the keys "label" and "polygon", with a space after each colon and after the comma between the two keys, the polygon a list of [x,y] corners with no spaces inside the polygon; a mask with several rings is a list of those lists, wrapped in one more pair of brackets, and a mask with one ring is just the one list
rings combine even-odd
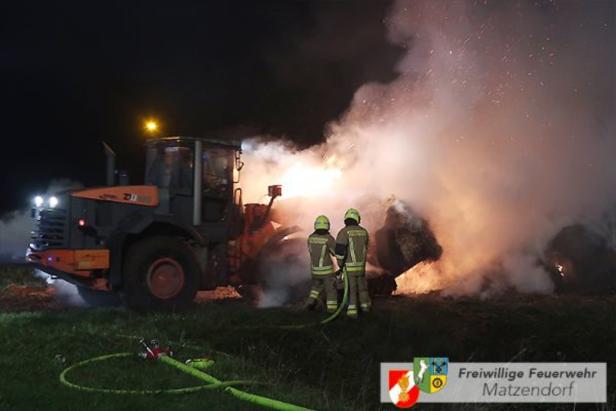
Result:
{"label": "firefighter on the left, standing closer to the wheel loader", "polygon": [[308,236],[312,272],[312,289],[305,304],[308,309],[315,307],[323,292],[325,292],[327,311],[334,312],[338,308],[332,260],[334,247],[334,237],[329,233],[329,219],[320,215],[314,221],[314,233]]}

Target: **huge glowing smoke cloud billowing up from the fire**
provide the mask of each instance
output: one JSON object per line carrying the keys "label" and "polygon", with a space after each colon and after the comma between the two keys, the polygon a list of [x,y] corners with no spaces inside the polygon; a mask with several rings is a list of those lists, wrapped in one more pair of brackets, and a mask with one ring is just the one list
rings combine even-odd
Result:
{"label": "huge glowing smoke cloud billowing up from the fire", "polygon": [[357,90],[319,146],[248,142],[245,199],[281,183],[294,223],[308,230],[324,213],[337,230],[347,207],[370,214],[394,195],[443,247],[399,289],[550,292],[538,264],[548,241],[616,195],[615,7],[396,2],[388,37],[408,50],[398,78]]}

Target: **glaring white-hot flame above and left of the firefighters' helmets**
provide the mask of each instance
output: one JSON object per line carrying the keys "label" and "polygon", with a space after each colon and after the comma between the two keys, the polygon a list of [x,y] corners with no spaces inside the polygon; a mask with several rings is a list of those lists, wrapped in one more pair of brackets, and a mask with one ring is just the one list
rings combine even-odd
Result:
{"label": "glaring white-hot flame above and left of the firefighters' helmets", "polygon": [[330,157],[325,166],[303,163],[293,165],[281,178],[284,196],[316,197],[327,194],[342,177],[342,169],[335,162],[335,157]]}

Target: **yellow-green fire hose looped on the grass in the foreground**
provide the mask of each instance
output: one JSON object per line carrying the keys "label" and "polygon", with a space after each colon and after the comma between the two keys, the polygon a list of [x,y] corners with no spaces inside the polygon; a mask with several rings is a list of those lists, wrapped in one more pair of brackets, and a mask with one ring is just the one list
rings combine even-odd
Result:
{"label": "yellow-green fire hose looped on the grass in the foreground", "polygon": [[[64,369],[60,373],[60,383],[69,388],[73,388],[79,391],[96,392],[96,393],[104,393],[104,394],[119,394],[119,395],[189,394],[192,392],[197,392],[197,391],[202,391],[202,390],[222,390],[223,392],[229,393],[235,398],[238,398],[242,401],[250,402],[252,404],[259,405],[261,407],[269,408],[272,410],[311,411],[309,408],[304,408],[298,405],[263,397],[261,395],[251,394],[249,392],[241,391],[234,387],[237,385],[257,385],[257,384],[260,384],[258,381],[254,381],[254,380],[220,381],[216,377],[204,372],[203,369],[206,367],[200,366],[199,362],[195,362],[194,364],[191,363],[192,365],[186,365],[174,358],[171,358],[168,355],[160,355],[158,357],[158,360],[186,374],[192,375],[193,377],[196,377],[200,379],[201,381],[204,381],[205,384],[197,385],[194,387],[168,388],[168,389],[158,389],[158,390],[127,390],[127,389],[88,387],[88,386],[79,385],[79,384],[70,382],[67,378],[68,373],[70,373],[71,371],[77,368],[86,366],[88,364],[93,364],[96,362],[101,362],[101,361],[109,360],[112,358],[131,357],[134,355],[135,354],[128,353],[128,352],[107,354],[107,355],[101,355],[100,357],[94,357],[94,358],[90,358],[85,361],[78,362]],[[213,361],[210,361],[209,364],[213,364]]]}

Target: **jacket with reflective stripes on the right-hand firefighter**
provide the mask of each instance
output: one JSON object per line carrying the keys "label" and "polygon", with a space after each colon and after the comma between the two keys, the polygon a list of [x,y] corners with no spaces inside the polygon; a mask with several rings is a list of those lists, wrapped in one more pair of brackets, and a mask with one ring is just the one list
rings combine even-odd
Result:
{"label": "jacket with reflective stripes on the right-hand firefighter", "polygon": [[336,259],[338,265],[349,274],[363,274],[368,255],[368,231],[360,225],[347,225],[336,238]]}

